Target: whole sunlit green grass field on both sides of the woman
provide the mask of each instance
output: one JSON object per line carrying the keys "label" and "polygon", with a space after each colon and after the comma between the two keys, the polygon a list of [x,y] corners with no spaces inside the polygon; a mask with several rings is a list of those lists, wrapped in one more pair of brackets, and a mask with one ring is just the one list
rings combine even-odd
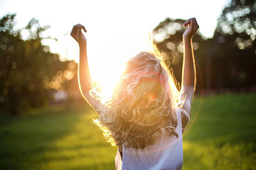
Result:
{"label": "whole sunlit green grass field on both sides of the woman", "polygon": [[[256,94],[195,97],[183,169],[256,169]],[[0,117],[0,169],[115,169],[90,108]]]}

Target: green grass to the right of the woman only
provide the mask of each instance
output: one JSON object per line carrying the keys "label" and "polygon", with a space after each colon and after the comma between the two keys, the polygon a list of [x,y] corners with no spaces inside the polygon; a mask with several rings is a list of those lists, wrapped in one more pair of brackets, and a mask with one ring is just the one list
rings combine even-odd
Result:
{"label": "green grass to the right of the woman only", "polygon": [[184,134],[184,169],[256,169],[255,101],[256,94],[197,97]]}

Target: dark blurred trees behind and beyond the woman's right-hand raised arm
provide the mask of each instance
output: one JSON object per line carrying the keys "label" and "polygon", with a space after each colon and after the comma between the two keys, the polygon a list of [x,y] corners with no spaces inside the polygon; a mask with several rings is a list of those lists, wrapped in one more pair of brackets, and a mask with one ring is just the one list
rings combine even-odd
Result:
{"label": "dark blurred trees behind and beyond the woman's right-hand raised arm", "polygon": [[[255,12],[255,1],[232,0],[218,19],[213,38],[205,39],[200,32],[195,34],[196,89],[206,89],[207,92],[255,90]],[[153,31],[156,45],[165,59],[170,61],[170,68],[179,82],[182,76],[184,21],[166,18]]]}

